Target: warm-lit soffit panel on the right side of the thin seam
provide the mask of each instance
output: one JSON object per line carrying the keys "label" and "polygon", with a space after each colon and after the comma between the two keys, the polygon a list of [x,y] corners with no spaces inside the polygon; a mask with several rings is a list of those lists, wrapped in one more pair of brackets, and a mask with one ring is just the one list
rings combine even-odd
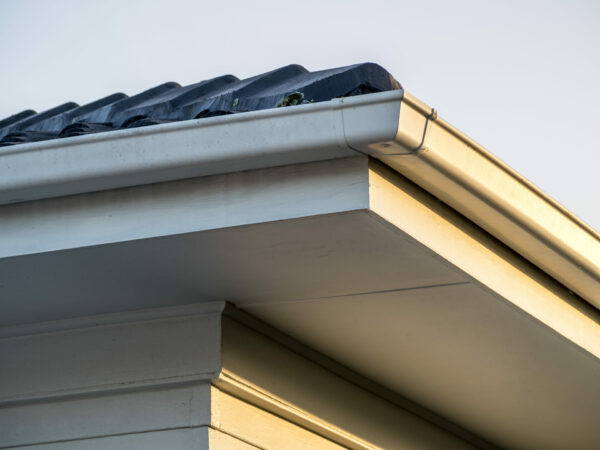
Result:
{"label": "warm-lit soffit panel on the right side of the thin seam", "polygon": [[600,441],[600,361],[473,284],[245,309],[501,447]]}

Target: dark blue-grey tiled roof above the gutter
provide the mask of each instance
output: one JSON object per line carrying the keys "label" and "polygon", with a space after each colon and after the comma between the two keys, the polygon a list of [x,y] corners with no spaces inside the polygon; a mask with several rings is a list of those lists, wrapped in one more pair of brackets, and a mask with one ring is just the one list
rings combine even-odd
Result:
{"label": "dark blue-grey tiled roof above the gutter", "polygon": [[377,64],[309,72],[292,64],[240,80],[222,75],[189,86],[168,82],[132,97],[116,93],[83,106],[68,102],[0,120],[0,146],[116,129],[313,103],[400,89]]}

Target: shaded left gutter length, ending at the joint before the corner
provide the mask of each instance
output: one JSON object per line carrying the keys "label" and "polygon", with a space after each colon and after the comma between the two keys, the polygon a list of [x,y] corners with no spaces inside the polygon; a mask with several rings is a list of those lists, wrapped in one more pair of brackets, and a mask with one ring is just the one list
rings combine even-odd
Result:
{"label": "shaded left gutter length, ending at the joint before the corner", "polygon": [[339,101],[0,149],[0,205],[356,156]]}

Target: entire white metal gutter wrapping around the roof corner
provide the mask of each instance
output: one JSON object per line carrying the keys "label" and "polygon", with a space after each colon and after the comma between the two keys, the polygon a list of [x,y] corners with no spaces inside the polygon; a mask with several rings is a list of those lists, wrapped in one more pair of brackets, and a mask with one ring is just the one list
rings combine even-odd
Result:
{"label": "entire white metal gutter wrapping around the roof corner", "polygon": [[371,155],[600,308],[600,236],[404,91],[0,149],[0,204]]}

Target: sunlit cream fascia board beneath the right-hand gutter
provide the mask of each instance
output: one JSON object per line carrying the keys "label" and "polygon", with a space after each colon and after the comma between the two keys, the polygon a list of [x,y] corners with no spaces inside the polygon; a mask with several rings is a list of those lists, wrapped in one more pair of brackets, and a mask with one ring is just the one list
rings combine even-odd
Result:
{"label": "sunlit cream fascia board beneath the right-hand gutter", "polygon": [[389,167],[373,161],[369,184],[374,218],[398,227],[499,299],[600,358],[597,309]]}

